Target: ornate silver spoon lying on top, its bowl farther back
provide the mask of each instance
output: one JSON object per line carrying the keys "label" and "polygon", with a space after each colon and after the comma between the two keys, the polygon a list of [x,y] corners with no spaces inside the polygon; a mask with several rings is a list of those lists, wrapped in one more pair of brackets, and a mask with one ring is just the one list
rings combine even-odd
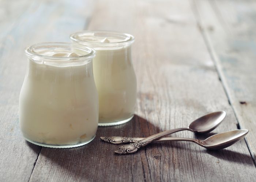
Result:
{"label": "ornate silver spoon lying on top, its bowl farther back", "polygon": [[[153,142],[154,140],[157,140],[159,138],[162,138],[165,135],[169,135],[178,131],[183,130],[189,130],[193,132],[198,133],[206,133],[214,130],[225,118],[226,112],[225,111],[218,111],[218,112],[212,112],[210,114],[204,115],[196,120],[194,120],[187,128],[177,128],[172,130],[167,130],[160,132],[158,134],[151,135],[150,137],[147,137],[141,141],[131,143],[131,149],[128,149],[129,151],[133,150],[134,152],[139,150],[140,147],[146,146],[149,143]],[[128,146],[128,145],[127,145]],[[134,146],[136,146],[134,148]]]}

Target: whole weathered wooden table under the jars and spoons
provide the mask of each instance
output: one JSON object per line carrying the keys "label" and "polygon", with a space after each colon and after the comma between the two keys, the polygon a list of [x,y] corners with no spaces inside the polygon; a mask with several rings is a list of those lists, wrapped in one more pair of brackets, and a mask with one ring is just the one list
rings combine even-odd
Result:
{"label": "whole weathered wooden table under the jars and spoons", "polygon": [[[0,181],[256,181],[256,1],[2,0],[0,15]],[[99,127],[86,146],[30,144],[18,124],[23,49],[69,41],[82,29],[135,36],[136,115],[120,126]],[[247,128],[245,140],[220,151],[165,142],[117,155],[116,145],[99,139],[147,137],[218,110],[226,119],[207,136]]]}

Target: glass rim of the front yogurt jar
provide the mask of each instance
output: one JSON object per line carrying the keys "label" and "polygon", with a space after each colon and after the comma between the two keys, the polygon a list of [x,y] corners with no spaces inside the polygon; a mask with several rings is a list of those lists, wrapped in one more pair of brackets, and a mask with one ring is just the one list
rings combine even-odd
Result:
{"label": "glass rim of the front yogurt jar", "polygon": [[[39,49],[39,48],[75,48],[78,50],[82,50],[87,52],[88,54],[82,55],[82,56],[72,56],[72,57],[63,57],[63,56],[46,56],[46,55],[41,55],[34,50]],[[95,56],[96,51],[93,48],[81,45],[81,44],[76,44],[76,43],[66,43],[66,42],[41,42],[41,43],[36,43],[36,44],[31,44],[30,46],[26,47],[24,49],[24,52],[27,56],[32,57],[33,59],[47,59],[48,61],[61,61],[61,62],[76,62],[76,61],[84,61],[87,59],[91,59]]]}

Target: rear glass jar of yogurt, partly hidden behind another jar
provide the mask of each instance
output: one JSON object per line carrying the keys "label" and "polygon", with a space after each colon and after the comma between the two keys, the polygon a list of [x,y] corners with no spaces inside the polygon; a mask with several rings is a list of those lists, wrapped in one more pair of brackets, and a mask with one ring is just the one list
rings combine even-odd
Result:
{"label": "rear glass jar of yogurt, partly hidden behind another jar", "polygon": [[123,124],[132,119],[136,105],[136,75],[131,59],[134,37],[110,31],[73,33],[71,40],[96,50],[93,59],[99,94],[99,126]]}

